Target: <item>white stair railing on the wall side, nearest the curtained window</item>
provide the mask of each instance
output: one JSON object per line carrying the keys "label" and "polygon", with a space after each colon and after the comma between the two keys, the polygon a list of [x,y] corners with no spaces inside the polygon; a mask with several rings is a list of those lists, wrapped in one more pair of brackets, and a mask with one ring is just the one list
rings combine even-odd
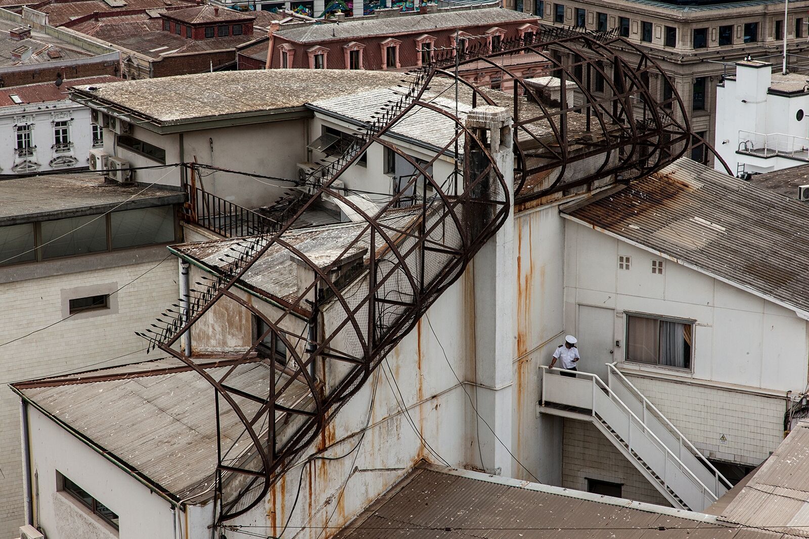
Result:
{"label": "white stair railing on the wall side, nearest the curtained window", "polygon": [[[646,425],[657,434],[660,440],[667,443],[672,451],[676,448],[677,457],[680,457],[680,460],[683,461],[685,465],[688,465],[689,470],[692,470],[695,474],[700,476],[702,482],[705,484],[713,484],[714,495],[716,495],[717,498],[733,488],[733,484],[705,458],[705,455],[691,443],[691,440],[688,440],[688,438],[680,432],[680,429],[674,426],[674,423],[671,423],[671,421],[663,415],[663,412],[659,411],[657,406],[654,406],[653,402],[646,398],[646,395],[642,394],[641,391],[618,370],[615,363],[608,363],[607,368],[607,383],[610,389],[616,393],[621,393],[618,387],[626,390],[626,396],[622,398],[626,405],[629,406],[630,409],[634,408],[633,412],[635,415],[638,415],[643,423],[646,423]],[[616,381],[616,384],[613,384],[613,381]]]}

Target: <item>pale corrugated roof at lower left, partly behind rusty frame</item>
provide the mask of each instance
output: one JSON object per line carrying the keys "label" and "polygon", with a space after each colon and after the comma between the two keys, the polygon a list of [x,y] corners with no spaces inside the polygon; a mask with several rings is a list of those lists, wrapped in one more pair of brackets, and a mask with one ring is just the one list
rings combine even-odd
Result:
{"label": "pale corrugated roof at lower left, partly behind rusty frame", "polygon": [[[227,363],[206,365],[214,377],[231,368]],[[227,380],[237,388],[249,388],[252,394],[269,394],[272,376],[269,364],[255,360],[237,365]],[[275,376],[288,379],[280,371]],[[180,499],[201,495],[213,480],[217,465],[214,390],[179,360],[147,361],[13,387]],[[304,406],[299,403],[308,394],[305,383],[293,381],[282,404]],[[258,406],[246,399],[240,404],[248,416]],[[277,421],[283,422],[284,416],[277,413]],[[231,454],[250,447],[250,440],[242,436],[244,426],[227,406],[222,407],[220,426],[222,447],[233,444]],[[279,423],[278,432],[283,428]]]}

